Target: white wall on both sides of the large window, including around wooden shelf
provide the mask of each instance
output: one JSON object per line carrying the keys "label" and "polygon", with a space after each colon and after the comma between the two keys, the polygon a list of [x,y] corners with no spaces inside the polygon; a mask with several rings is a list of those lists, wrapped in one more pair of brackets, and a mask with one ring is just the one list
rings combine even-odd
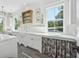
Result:
{"label": "white wall on both sides of the large window, including around wooden shelf", "polygon": [[[59,1],[59,0],[58,0]],[[60,0],[60,3],[62,3],[63,0]],[[46,19],[46,7],[49,5],[54,5],[58,3],[55,0],[49,1],[38,1],[36,3],[25,5],[23,8],[18,10],[16,15],[19,16],[19,19],[22,21],[22,12],[32,9],[33,10],[33,22],[29,24],[22,24],[20,27],[20,32],[45,32],[47,33],[47,19]],[[76,0],[64,0],[65,3],[65,12],[64,12],[64,34],[68,35],[76,35]],[[44,25],[36,25],[35,23],[35,9],[41,8],[42,13],[44,14]],[[73,30],[72,30],[73,29]]]}

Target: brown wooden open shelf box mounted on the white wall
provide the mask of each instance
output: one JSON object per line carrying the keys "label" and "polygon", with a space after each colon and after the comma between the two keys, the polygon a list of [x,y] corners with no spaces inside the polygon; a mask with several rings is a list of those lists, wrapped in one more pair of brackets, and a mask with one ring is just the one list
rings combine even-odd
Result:
{"label": "brown wooden open shelf box mounted on the white wall", "polygon": [[32,10],[28,10],[22,13],[23,24],[32,23]]}

